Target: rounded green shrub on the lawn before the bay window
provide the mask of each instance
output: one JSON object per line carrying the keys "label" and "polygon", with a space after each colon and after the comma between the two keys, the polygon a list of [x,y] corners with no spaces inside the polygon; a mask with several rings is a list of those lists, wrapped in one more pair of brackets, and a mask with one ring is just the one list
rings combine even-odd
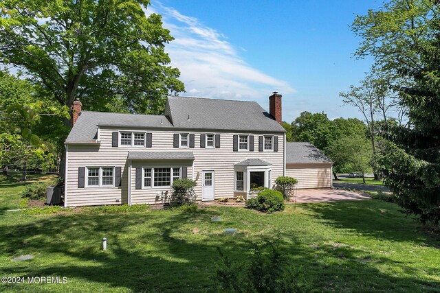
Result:
{"label": "rounded green shrub on the lawn before the bay window", "polygon": [[256,198],[251,198],[245,204],[248,209],[256,209],[263,213],[273,213],[284,210],[283,194],[280,191],[266,189],[259,193]]}

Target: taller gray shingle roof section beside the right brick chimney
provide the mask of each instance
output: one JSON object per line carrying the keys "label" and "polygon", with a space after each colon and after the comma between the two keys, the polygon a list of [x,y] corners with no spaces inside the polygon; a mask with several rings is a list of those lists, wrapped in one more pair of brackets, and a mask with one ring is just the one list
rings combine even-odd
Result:
{"label": "taller gray shingle roof section beside the right brick chimney", "polygon": [[177,128],[285,132],[257,102],[168,97],[168,106]]}

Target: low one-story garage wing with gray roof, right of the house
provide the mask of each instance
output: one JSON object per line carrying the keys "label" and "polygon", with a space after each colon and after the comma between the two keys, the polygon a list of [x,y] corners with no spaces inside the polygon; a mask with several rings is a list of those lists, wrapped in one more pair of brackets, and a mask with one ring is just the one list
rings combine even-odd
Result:
{"label": "low one-story garage wing with gray roof, right of the house", "polygon": [[286,176],[298,189],[331,188],[332,162],[311,143],[286,143]]}

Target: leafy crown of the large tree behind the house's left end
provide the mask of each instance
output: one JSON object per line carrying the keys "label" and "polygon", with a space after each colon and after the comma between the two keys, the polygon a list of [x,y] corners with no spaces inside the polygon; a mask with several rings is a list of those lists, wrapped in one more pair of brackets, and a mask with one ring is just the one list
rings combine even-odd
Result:
{"label": "leafy crown of the large tree behind the house's left end", "polygon": [[148,0],[0,0],[0,62],[41,84],[61,105],[102,108],[115,95],[137,113],[159,113],[184,91],[164,45],[173,37]]}

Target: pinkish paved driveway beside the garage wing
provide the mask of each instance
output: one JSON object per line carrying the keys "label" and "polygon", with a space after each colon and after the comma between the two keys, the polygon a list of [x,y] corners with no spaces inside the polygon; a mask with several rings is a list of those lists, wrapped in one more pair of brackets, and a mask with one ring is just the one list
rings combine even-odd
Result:
{"label": "pinkish paved driveway beside the garage wing", "polygon": [[356,192],[340,189],[298,189],[296,202],[337,202],[340,200],[368,200]]}

